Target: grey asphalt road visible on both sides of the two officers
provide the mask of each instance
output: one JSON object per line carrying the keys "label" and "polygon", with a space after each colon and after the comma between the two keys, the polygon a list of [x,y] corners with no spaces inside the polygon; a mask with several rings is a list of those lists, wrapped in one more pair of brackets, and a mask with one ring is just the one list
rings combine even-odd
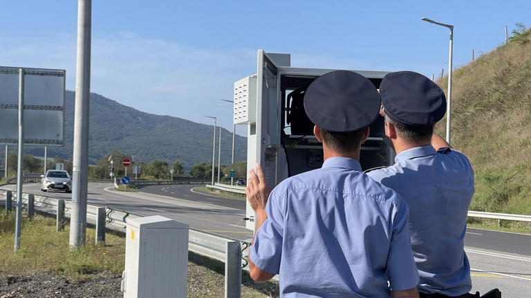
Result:
{"label": "grey asphalt road visible on both sides of the two officers", "polygon": [[[149,186],[140,192],[116,192],[111,183],[90,183],[88,201],[138,215],[162,215],[234,239],[252,237],[242,221],[244,200],[204,195],[194,192],[195,187]],[[38,184],[24,185],[24,192],[71,199],[71,194],[41,192]],[[473,291],[499,288],[504,298],[531,297],[531,235],[469,228],[465,251],[472,267]]]}

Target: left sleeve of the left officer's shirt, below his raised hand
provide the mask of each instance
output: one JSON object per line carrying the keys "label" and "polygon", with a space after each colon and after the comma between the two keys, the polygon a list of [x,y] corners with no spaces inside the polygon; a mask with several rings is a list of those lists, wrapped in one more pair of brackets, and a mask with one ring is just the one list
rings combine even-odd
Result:
{"label": "left sleeve of the left officer's shirt, below his raised hand", "polygon": [[278,274],[280,270],[284,225],[284,215],[278,205],[279,197],[275,194],[273,191],[269,196],[265,206],[268,219],[265,219],[257,230],[254,244],[250,249],[250,258],[254,265],[272,274]]}

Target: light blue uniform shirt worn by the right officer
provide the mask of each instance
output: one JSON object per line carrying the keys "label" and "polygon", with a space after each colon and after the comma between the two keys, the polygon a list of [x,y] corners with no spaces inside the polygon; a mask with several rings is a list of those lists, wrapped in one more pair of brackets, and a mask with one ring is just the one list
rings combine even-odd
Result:
{"label": "light blue uniform shirt worn by the right officer", "polygon": [[470,265],[463,249],[474,170],[467,157],[449,148],[416,147],[400,152],[393,166],[367,175],[409,204],[419,290],[448,296],[469,292]]}

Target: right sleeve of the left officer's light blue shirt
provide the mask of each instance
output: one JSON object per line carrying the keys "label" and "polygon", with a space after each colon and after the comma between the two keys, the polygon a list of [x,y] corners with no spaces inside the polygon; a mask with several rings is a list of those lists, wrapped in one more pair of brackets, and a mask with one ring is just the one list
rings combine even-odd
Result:
{"label": "right sleeve of the left officer's light blue shirt", "polygon": [[401,197],[400,201],[393,215],[387,275],[392,290],[409,290],[418,285],[419,277],[409,239],[409,208]]}

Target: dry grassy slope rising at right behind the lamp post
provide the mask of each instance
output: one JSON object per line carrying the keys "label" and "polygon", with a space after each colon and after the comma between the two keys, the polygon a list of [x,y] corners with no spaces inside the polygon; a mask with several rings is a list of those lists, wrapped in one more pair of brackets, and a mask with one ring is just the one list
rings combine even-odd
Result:
{"label": "dry grassy slope rising at right behind the lamp post", "polygon": [[454,70],[451,144],[475,170],[472,210],[531,215],[531,31],[521,33]]}

